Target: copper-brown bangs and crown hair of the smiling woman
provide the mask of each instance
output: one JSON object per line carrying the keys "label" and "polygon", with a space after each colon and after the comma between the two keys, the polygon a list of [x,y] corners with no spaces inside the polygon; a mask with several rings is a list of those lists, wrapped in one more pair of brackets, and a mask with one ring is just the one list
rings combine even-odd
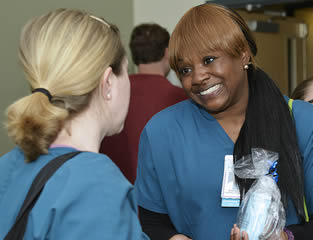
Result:
{"label": "copper-brown bangs and crown hair of the smiling woman", "polygon": [[239,57],[247,50],[254,63],[257,49],[245,21],[234,11],[218,4],[191,8],[176,25],[169,42],[170,65],[178,73],[178,60],[211,51]]}

